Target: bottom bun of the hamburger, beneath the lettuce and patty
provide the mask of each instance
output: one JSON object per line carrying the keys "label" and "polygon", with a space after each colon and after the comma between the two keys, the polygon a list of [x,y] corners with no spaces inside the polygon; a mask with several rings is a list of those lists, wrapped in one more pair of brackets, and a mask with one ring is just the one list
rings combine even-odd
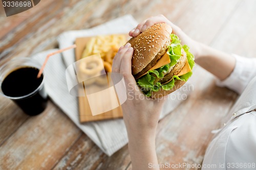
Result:
{"label": "bottom bun of the hamburger, beneath the lettuce and patty", "polygon": [[163,96],[170,94],[170,93],[174,92],[175,90],[178,90],[185,83],[186,83],[185,81],[176,80],[174,83],[174,88],[172,88],[170,90],[163,90],[162,88],[160,88],[159,91],[152,91],[151,98],[152,99],[162,98]]}

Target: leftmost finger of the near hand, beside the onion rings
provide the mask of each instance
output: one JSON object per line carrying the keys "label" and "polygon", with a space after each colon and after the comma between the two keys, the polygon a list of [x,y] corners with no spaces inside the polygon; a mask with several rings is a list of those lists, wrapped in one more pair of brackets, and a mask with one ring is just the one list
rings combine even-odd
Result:
{"label": "leftmost finger of the near hand, beside the onion rings", "polygon": [[124,46],[121,46],[119,48],[117,54],[115,55],[115,57],[113,59],[112,72],[119,72],[120,71],[122,57],[130,46],[131,46],[130,43],[126,43]]}

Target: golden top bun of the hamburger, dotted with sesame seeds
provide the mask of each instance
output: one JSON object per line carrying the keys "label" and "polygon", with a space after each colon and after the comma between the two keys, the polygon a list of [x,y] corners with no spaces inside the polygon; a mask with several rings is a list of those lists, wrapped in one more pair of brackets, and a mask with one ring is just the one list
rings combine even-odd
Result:
{"label": "golden top bun of the hamburger, dotted with sesame seeds", "polygon": [[[158,23],[128,41],[134,48],[132,74],[135,77],[147,72],[164,55],[170,44],[170,34],[172,27],[166,23]],[[150,66],[147,66],[148,64]],[[139,72],[140,75],[137,75]]]}

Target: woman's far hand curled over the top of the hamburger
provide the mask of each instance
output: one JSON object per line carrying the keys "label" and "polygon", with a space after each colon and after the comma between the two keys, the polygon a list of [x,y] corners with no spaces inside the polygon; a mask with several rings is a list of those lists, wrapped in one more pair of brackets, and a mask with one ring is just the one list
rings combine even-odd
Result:
{"label": "woman's far hand curled over the top of the hamburger", "polygon": [[173,29],[173,33],[176,34],[180,40],[181,44],[188,45],[190,47],[190,52],[195,56],[195,59],[198,58],[201,50],[201,44],[197,41],[191,39],[189,36],[187,36],[178,26],[174,25],[171,21],[169,21],[165,16],[163,15],[157,15],[154,17],[150,17],[142,21],[138,24],[138,26],[129,32],[129,35],[131,37],[137,37],[140,33],[145,31],[146,29],[152,27],[156,23],[167,23],[170,25]]}

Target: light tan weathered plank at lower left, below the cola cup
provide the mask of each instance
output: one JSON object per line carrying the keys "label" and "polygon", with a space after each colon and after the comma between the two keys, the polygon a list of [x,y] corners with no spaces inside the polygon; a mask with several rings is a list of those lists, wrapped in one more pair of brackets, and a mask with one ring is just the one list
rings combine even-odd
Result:
{"label": "light tan weathered plank at lower left, below the cola cup", "polygon": [[52,102],[29,119],[0,147],[0,169],[50,169],[81,131]]}

